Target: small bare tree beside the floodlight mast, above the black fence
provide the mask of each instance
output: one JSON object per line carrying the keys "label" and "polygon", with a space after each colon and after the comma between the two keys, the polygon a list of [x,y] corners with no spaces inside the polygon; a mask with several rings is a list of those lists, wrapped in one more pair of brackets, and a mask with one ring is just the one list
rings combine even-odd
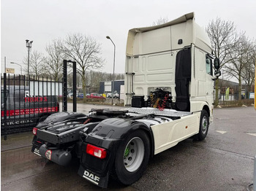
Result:
{"label": "small bare tree beside the floodlight mast, above the black fence", "polygon": [[[23,63],[28,66],[28,57],[25,58]],[[41,75],[44,71],[44,63],[45,57],[41,52],[37,52],[37,50],[31,52],[29,58],[29,74],[34,75],[36,78]],[[25,69],[26,73],[28,73],[28,69]]]}

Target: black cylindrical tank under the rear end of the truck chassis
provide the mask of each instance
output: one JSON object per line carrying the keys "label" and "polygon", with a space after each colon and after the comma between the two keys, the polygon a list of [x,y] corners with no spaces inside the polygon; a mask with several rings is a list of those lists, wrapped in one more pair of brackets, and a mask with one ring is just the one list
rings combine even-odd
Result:
{"label": "black cylindrical tank under the rear end of the truck chassis", "polygon": [[48,149],[45,144],[39,148],[39,154],[48,160],[57,163],[58,165],[68,165],[72,160],[72,155],[70,152],[64,149]]}

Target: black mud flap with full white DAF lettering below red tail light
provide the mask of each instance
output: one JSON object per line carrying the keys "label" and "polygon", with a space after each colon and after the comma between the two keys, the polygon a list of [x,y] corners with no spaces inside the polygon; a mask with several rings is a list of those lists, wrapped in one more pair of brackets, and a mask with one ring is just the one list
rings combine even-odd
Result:
{"label": "black mud flap with full white DAF lettering below red tail light", "polygon": [[106,176],[97,176],[97,174],[94,174],[94,172],[83,168],[83,165],[80,165],[78,169],[78,174],[83,178],[87,179],[89,182],[97,185],[98,187],[108,187],[108,174]]}

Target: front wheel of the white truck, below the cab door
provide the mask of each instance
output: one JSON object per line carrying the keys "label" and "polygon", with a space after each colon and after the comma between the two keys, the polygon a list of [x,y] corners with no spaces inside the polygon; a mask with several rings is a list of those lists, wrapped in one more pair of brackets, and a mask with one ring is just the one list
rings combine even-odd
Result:
{"label": "front wheel of the white truck, below the cab door", "polygon": [[208,112],[206,112],[206,110],[203,110],[200,116],[199,133],[196,136],[196,139],[198,141],[203,141],[203,139],[206,139],[208,128],[209,128],[209,115],[208,115]]}

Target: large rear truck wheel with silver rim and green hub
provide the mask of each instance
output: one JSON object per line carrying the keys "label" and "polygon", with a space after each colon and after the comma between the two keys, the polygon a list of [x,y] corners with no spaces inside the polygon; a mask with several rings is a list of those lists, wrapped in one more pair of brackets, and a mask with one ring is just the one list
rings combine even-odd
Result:
{"label": "large rear truck wheel with silver rim and green hub", "polygon": [[150,156],[150,141],[143,130],[131,133],[118,147],[114,174],[122,184],[132,184],[143,175]]}

